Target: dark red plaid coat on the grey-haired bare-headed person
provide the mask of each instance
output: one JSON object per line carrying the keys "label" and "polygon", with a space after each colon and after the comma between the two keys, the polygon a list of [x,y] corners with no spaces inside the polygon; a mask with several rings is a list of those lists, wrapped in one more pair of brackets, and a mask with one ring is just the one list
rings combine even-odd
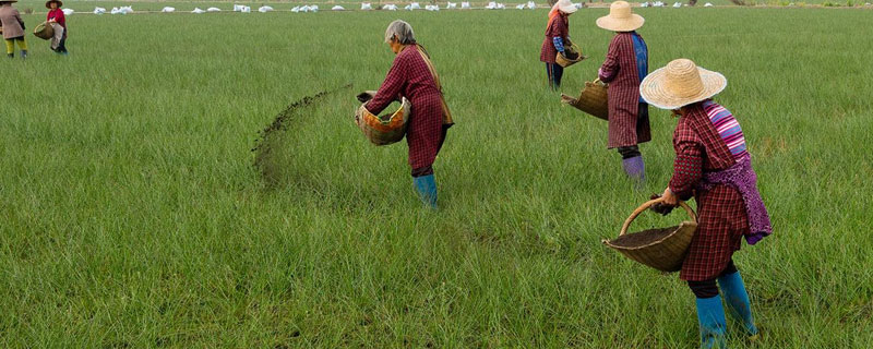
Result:
{"label": "dark red plaid coat on the grey-haired bare-headed person", "polygon": [[406,97],[412,105],[406,131],[409,166],[412,169],[431,166],[442,145],[442,99],[416,45],[406,46],[397,53],[375,97],[367,103],[367,110],[379,115],[400,97]]}

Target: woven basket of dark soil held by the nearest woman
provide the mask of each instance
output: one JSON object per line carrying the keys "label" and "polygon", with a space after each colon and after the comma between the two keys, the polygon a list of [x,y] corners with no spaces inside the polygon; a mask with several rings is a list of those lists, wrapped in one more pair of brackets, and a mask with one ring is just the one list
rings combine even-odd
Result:
{"label": "woven basket of dark soil held by the nearest woman", "polygon": [[[636,208],[636,210],[627,217],[627,220],[624,221],[619,236],[625,234],[634,218],[659,201],[659,198],[656,198]],[[685,254],[689,251],[691,238],[694,237],[694,232],[697,230],[697,215],[694,214],[694,210],[691,209],[687,204],[680,202],[679,205],[689,214],[691,221],[683,221],[679,225],[679,228],[660,240],[633,248],[615,245],[612,243],[614,240],[603,240],[603,243],[621,252],[624,256],[658,270],[680,270],[682,268],[682,262],[685,260]]]}

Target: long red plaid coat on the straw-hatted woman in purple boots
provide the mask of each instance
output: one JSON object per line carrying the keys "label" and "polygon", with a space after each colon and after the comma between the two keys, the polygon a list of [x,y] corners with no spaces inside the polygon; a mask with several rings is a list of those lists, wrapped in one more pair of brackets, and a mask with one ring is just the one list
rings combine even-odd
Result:
{"label": "long red plaid coat on the straw-hatted woman in purple boots", "polygon": [[609,83],[609,148],[651,141],[648,115],[638,116],[638,75],[633,36],[615,34],[599,72],[600,81]]}

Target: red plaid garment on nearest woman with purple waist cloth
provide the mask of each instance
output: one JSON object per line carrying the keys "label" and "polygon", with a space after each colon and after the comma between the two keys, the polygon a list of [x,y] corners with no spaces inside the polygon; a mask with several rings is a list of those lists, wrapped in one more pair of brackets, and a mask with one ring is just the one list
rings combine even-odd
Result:
{"label": "red plaid garment on nearest woman with purple waist cloth", "polygon": [[670,191],[682,200],[697,202],[697,232],[679,277],[683,280],[713,279],[727,267],[749,230],[749,217],[740,192],[728,185],[695,191],[703,173],[727,169],[736,163],[709,117],[698,103],[686,107],[673,133],[673,177]]}

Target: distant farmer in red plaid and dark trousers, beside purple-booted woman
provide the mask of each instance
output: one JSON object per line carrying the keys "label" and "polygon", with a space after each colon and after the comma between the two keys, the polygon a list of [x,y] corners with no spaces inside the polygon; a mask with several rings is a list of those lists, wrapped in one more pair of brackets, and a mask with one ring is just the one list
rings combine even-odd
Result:
{"label": "distant farmer in red plaid and dark trousers, beside purple-booted woman", "polygon": [[546,27],[546,38],[539,51],[539,60],[546,62],[546,74],[549,77],[549,87],[561,87],[561,76],[564,69],[554,62],[558,52],[563,53],[564,47],[570,47],[570,22],[567,17],[576,12],[576,7],[570,0],[559,0],[549,11],[549,25]]}

